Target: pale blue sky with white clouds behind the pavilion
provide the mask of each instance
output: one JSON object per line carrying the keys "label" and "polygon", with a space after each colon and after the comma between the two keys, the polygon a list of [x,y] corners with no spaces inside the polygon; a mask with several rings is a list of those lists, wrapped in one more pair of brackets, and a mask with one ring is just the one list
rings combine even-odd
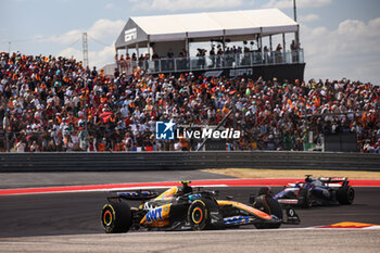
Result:
{"label": "pale blue sky with white clouds behind the pavilion", "polygon": [[[380,85],[380,1],[296,0],[305,78],[347,77]],[[0,0],[0,51],[74,55],[89,34],[90,65],[114,58],[113,42],[129,16],[279,8],[292,0]],[[9,45],[11,41],[11,45]]]}

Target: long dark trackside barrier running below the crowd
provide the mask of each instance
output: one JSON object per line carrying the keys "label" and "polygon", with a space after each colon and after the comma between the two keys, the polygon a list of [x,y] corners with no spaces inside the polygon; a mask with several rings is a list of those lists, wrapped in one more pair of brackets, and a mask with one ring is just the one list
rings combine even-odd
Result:
{"label": "long dark trackside barrier running below the crowd", "polygon": [[231,167],[380,172],[380,155],[284,151],[0,154],[0,172],[182,170]]}

